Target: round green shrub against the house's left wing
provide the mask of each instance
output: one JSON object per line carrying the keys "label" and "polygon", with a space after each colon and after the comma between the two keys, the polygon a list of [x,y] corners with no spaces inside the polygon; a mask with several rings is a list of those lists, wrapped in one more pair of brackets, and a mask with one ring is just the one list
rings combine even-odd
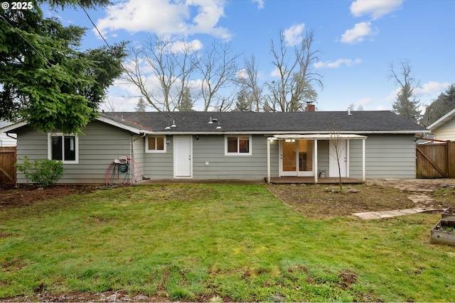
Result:
{"label": "round green shrub against the house's left wing", "polygon": [[24,156],[22,164],[16,163],[17,170],[25,175],[28,181],[40,187],[48,187],[63,176],[63,162],[58,160],[39,159],[32,163]]}

